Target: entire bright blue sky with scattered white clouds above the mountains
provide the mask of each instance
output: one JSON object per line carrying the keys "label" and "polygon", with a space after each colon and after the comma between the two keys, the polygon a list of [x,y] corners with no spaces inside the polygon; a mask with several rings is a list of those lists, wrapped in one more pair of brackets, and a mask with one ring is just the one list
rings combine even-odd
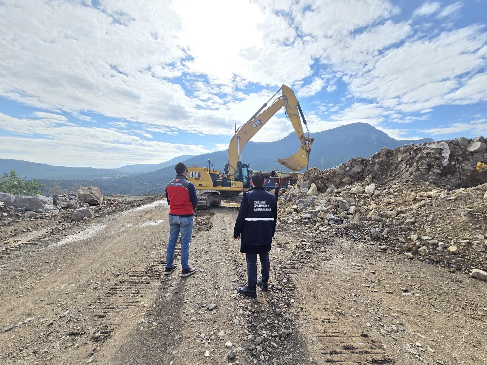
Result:
{"label": "entire bright blue sky with scattered white clouds above the mountains", "polygon": [[[312,133],[487,135],[486,14],[487,0],[1,0],[0,158],[225,149],[281,84]],[[253,140],[291,131],[280,113]]]}

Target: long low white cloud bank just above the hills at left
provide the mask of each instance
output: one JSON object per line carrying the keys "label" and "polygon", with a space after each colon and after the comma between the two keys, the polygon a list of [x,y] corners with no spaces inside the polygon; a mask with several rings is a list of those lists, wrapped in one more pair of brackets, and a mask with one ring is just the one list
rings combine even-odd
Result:
{"label": "long low white cloud bank just above the hills at left", "polygon": [[181,151],[192,155],[210,151],[201,145],[146,141],[113,128],[79,127],[62,121],[20,119],[0,113],[2,129],[21,135],[2,137],[3,158],[44,164],[118,167],[127,163],[160,163],[180,155]]}

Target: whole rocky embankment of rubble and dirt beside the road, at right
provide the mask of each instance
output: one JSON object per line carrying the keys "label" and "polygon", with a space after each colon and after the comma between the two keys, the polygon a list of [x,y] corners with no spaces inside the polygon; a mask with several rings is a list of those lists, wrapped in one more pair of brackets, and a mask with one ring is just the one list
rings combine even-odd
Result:
{"label": "whole rocky embankment of rubble and dirt beside the road, at right", "polygon": [[311,168],[282,191],[281,222],[487,280],[487,172],[475,168],[486,150],[484,137],[459,138]]}

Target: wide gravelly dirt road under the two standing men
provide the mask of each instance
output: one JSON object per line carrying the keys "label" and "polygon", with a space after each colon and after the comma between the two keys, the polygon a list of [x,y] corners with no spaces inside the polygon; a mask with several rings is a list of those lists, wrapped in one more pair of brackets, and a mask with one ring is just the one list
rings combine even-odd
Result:
{"label": "wide gravelly dirt road under the two standing men", "polygon": [[0,262],[0,362],[487,364],[487,283],[278,223],[271,291],[243,298],[236,214],[197,212],[188,278],[163,275],[164,201]]}

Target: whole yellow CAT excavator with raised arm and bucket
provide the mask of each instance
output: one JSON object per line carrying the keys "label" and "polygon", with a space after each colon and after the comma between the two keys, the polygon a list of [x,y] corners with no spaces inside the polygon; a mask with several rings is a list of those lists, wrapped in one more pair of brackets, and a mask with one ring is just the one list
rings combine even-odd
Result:
{"label": "whole yellow CAT excavator with raised arm and bucket", "polygon": [[[274,99],[279,91],[282,91],[281,96],[267,107],[267,104]],[[196,190],[206,190],[205,193],[198,195],[198,209],[207,209],[216,201],[240,202],[242,200],[242,193],[250,189],[251,177],[250,166],[241,161],[242,150],[254,134],[282,107],[285,108],[286,116],[291,121],[301,146],[294,155],[277,161],[293,171],[300,171],[306,167],[314,138],[311,138],[306,119],[294,91],[286,85],[282,85],[245,124],[235,130],[228,146],[228,163],[225,164],[223,172],[215,170],[209,160],[206,167],[187,167],[187,179],[194,183]],[[264,108],[266,109],[264,110]],[[307,136],[304,135],[300,116],[306,127]]]}

